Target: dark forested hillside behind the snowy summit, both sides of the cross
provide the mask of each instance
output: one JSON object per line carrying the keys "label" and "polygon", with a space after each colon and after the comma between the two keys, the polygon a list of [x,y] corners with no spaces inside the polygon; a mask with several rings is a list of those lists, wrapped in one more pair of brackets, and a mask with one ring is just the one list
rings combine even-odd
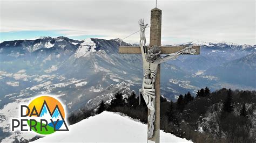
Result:
{"label": "dark forested hillside behind the snowy summit, both sides of the cross", "polygon": [[[160,128],[194,142],[255,142],[256,92],[200,89],[180,95],[177,102],[161,97]],[[69,117],[71,124],[104,110],[122,112],[147,123],[147,107],[134,92],[124,97],[117,92],[109,103],[102,101],[96,110],[80,110]]]}

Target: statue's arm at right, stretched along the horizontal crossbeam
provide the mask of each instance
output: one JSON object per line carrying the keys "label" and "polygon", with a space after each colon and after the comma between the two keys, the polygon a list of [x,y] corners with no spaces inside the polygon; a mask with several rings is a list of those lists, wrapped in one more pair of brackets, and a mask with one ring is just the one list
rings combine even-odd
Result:
{"label": "statue's arm at right, stretched along the horizontal crossbeam", "polygon": [[197,52],[196,49],[193,49],[192,46],[188,46],[188,47],[185,47],[184,49],[181,49],[179,52],[171,53],[171,54],[168,54],[168,55],[162,57],[160,60],[160,63],[166,62],[168,60],[175,60],[181,54],[192,54],[193,55],[196,52]]}

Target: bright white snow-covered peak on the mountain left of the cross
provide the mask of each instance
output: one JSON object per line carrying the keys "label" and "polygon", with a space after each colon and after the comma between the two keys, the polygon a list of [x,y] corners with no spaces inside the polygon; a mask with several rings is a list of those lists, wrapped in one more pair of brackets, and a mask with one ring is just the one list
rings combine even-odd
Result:
{"label": "bright white snow-covered peak on the mountain left of the cross", "polygon": [[91,40],[91,38],[85,39],[77,48],[75,57],[80,58],[82,56],[88,55],[90,52],[96,52],[95,48],[96,44]]}

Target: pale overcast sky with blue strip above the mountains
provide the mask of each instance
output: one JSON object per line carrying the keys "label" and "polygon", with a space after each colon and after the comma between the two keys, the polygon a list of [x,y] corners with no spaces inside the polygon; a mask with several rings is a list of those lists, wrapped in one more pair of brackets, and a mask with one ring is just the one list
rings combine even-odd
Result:
{"label": "pale overcast sky with blue strip above the mountains", "polygon": [[[150,23],[156,1],[2,1],[0,41],[64,35],[73,39],[124,38]],[[158,0],[162,44],[188,41],[255,44],[254,0]],[[149,29],[146,31],[149,39]],[[138,42],[139,33],[124,39]]]}

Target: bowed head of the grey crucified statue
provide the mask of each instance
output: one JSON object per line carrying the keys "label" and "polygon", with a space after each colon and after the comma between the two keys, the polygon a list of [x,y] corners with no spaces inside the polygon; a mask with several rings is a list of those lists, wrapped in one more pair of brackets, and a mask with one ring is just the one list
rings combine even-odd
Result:
{"label": "bowed head of the grey crucified statue", "polygon": [[147,49],[146,61],[153,62],[160,57],[160,54],[161,54],[160,47],[157,45],[154,45],[149,49]]}

